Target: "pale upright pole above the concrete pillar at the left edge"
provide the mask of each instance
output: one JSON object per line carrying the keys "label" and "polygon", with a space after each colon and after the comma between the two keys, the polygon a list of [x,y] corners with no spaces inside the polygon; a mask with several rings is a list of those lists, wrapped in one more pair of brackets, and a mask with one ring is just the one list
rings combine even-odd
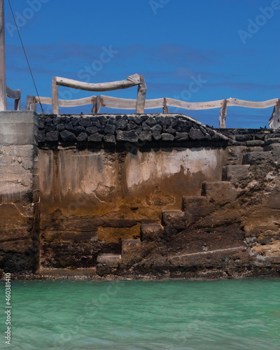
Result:
{"label": "pale upright pole above the concrete pillar at the left edge", "polygon": [[7,110],[4,0],[0,0],[0,111]]}

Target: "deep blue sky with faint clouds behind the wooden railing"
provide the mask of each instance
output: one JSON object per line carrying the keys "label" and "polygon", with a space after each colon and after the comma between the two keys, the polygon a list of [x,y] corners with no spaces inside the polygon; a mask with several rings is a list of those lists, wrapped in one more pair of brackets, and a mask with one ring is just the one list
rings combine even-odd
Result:
{"label": "deep blue sky with faint clouds behind the wooden railing", "polygon": [[[279,0],[10,3],[43,97],[51,96],[52,76],[101,83],[139,73],[145,76],[147,99],[172,97],[206,102],[229,97],[251,101],[280,98]],[[6,82],[10,88],[22,90],[24,109],[27,94],[36,92],[8,0],[5,15]],[[59,87],[62,99],[91,94],[94,93]],[[103,94],[136,98],[137,87]],[[50,106],[43,107],[51,113]],[[60,112],[90,113],[91,108]],[[13,109],[10,99],[8,109]],[[102,111],[120,112],[106,108]],[[218,127],[218,109],[169,111]],[[160,109],[150,112],[160,113]],[[271,114],[272,108],[229,107],[226,126],[265,127]]]}

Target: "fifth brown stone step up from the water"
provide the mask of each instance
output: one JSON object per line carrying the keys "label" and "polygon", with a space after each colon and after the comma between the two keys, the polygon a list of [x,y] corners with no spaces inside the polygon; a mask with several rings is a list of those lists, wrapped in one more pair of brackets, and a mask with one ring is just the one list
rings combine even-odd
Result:
{"label": "fifth brown stone step up from the water", "polygon": [[214,204],[206,196],[183,197],[182,209],[188,221],[197,221],[214,210]]}

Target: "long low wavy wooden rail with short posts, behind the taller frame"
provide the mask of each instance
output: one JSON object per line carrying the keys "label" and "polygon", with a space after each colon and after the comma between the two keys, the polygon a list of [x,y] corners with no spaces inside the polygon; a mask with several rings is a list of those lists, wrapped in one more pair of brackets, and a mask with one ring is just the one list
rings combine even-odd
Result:
{"label": "long low wavy wooden rail with short posts, behind the taller frame", "polygon": [[[38,103],[38,97],[29,96],[28,101],[29,102],[27,104],[27,109],[30,109],[30,106],[33,106],[34,108],[34,104]],[[138,99],[121,99],[118,97],[104,96],[101,94],[99,96],[85,97],[84,99],[59,99],[58,104],[62,107],[74,107],[93,104],[92,113],[99,113],[101,107],[107,107],[110,109],[137,109],[137,101]],[[52,99],[49,97],[41,97],[41,103],[52,104]],[[186,102],[180,101],[179,99],[163,97],[160,99],[146,99],[144,106],[146,109],[162,108],[163,113],[168,113],[169,106],[189,110],[221,109],[219,118],[219,125],[221,128],[225,128],[225,118],[227,116],[229,106],[239,106],[254,109],[266,109],[274,106],[274,111],[272,114],[273,118],[270,118],[269,120],[269,127],[280,127],[279,99],[269,99],[263,102],[253,102],[230,98],[209,102]],[[144,109],[141,113],[144,113]]]}

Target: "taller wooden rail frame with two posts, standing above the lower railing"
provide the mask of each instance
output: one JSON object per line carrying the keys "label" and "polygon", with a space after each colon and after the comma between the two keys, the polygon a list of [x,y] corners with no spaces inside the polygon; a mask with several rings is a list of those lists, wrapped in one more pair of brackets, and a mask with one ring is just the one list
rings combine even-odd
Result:
{"label": "taller wooden rail frame with two posts, standing above the lower railing", "polygon": [[[137,113],[144,113],[144,105],[146,100],[146,83],[144,76],[139,76],[139,74],[134,74],[127,77],[125,80],[111,81],[109,83],[84,83],[78,80],[72,80],[67,78],[60,78],[55,76],[52,78],[52,113],[59,114],[59,106],[72,106],[72,102],[61,102],[58,98],[58,86],[71,87],[73,89],[87,90],[87,91],[111,91],[119,89],[127,89],[128,87],[138,86],[137,101],[135,104]],[[87,104],[87,99],[82,99],[83,102],[78,102]],[[59,102],[60,101],[60,102]],[[75,101],[75,100],[72,100]],[[43,103],[43,102],[42,102]],[[90,102],[92,103],[92,102]],[[78,104],[77,106],[81,106]]]}

